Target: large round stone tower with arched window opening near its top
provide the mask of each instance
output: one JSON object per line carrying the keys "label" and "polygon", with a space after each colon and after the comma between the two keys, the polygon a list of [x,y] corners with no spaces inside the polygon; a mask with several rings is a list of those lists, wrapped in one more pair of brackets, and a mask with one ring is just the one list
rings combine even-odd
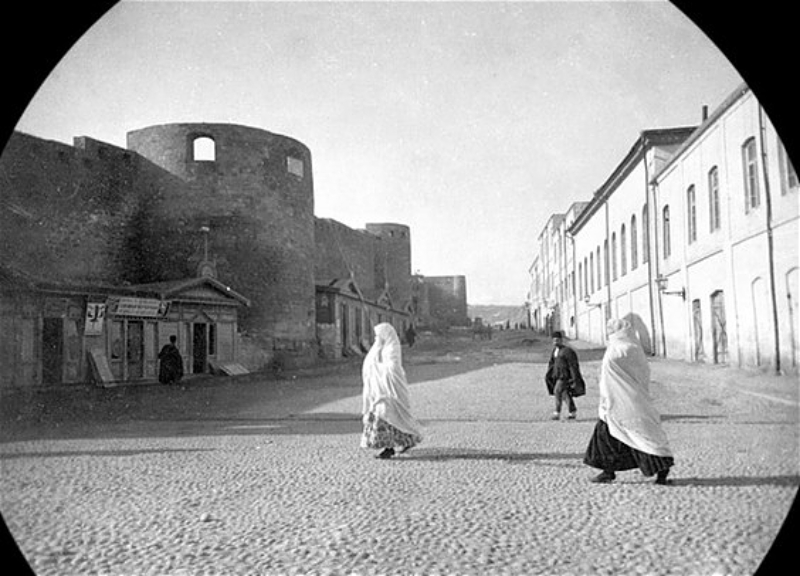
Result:
{"label": "large round stone tower with arched window opening near its top", "polygon": [[[314,185],[301,142],[232,124],[164,124],[127,134],[127,147],[180,186],[156,186],[148,241],[158,276],[212,274],[252,301],[243,331],[274,350],[310,355],[314,325]],[[187,240],[191,239],[190,242]],[[176,253],[171,256],[170,245]],[[180,253],[181,245],[193,246]]]}

